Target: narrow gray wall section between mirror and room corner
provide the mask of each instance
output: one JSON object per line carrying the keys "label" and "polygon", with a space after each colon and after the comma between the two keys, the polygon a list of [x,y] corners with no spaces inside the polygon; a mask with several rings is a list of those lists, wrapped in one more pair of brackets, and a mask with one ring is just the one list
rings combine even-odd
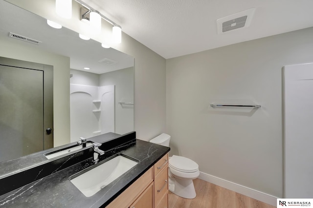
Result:
{"label": "narrow gray wall section between mirror and room corner", "polygon": [[134,130],[149,141],[165,132],[165,59],[125,33],[122,42],[115,48],[134,57]]}

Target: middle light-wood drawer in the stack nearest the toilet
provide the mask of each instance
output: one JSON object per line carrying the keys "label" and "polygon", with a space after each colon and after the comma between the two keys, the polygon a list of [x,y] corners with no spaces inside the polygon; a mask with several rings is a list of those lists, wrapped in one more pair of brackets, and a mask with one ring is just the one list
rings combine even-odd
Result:
{"label": "middle light-wood drawer in the stack nearest the toilet", "polygon": [[155,178],[155,205],[158,205],[160,200],[168,192],[168,166],[161,170]]}

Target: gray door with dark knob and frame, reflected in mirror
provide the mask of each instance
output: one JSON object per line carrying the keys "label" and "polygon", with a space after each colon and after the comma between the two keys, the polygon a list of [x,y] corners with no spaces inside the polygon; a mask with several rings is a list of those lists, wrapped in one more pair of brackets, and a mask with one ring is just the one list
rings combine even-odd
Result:
{"label": "gray door with dark knob and frame, reflected in mirror", "polygon": [[53,112],[45,124],[45,65],[7,58],[0,64],[0,162],[53,147],[46,130],[53,128]]}

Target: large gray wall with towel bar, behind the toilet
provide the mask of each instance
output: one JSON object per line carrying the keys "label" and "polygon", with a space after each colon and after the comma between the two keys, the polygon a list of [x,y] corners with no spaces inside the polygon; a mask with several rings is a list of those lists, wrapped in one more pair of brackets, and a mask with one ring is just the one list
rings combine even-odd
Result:
{"label": "large gray wall with towel bar, behind the toilet", "polygon": [[[282,197],[282,67],[313,62],[313,28],[166,60],[171,153]],[[210,103],[260,104],[257,110]]]}

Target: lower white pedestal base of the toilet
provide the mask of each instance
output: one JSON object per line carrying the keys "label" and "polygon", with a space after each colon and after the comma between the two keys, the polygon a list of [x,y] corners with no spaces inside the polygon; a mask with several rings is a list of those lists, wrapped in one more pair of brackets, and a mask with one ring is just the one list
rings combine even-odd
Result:
{"label": "lower white pedestal base of the toilet", "polygon": [[169,191],[186,199],[196,197],[196,190],[191,179],[179,179],[169,177]]}

